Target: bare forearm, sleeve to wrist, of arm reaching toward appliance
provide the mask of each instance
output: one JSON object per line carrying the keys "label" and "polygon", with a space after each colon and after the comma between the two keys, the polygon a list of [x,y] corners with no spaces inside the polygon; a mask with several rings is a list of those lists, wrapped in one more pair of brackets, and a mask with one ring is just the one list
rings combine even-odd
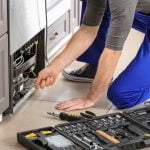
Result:
{"label": "bare forearm, sleeve to wrist, of arm reaching toward appliance", "polygon": [[82,25],[73,35],[65,49],[50,64],[62,71],[84,53],[96,38],[98,27]]}

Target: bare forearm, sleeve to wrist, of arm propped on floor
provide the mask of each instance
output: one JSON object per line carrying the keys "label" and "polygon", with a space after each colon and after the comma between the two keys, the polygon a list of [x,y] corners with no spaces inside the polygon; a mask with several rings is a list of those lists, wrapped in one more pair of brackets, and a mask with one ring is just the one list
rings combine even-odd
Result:
{"label": "bare forearm, sleeve to wrist, of arm propped on floor", "polygon": [[104,49],[104,52],[99,60],[95,79],[88,94],[91,99],[98,100],[108,88],[120,55],[121,51],[113,51],[107,48]]}

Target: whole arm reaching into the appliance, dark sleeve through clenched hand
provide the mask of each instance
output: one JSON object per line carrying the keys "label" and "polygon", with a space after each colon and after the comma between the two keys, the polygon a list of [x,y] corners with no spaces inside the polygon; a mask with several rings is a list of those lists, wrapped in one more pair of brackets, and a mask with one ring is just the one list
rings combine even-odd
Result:
{"label": "whole arm reaching into the appliance, dark sleeve through clenched hand", "polygon": [[[36,88],[43,89],[54,84],[58,74],[93,43],[104,15],[106,2],[107,0],[88,0],[83,19],[84,25],[81,25],[77,33],[73,35],[63,52],[39,73],[35,83]],[[89,23],[90,25],[88,25]]]}

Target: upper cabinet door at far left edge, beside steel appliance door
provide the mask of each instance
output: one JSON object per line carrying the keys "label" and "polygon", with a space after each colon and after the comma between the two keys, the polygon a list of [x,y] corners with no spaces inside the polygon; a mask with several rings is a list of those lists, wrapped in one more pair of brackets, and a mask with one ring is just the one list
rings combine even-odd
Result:
{"label": "upper cabinet door at far left edge, beside steel appliance door", "polygon": [[7,32],[7,0],[0,0],[0,36]]}

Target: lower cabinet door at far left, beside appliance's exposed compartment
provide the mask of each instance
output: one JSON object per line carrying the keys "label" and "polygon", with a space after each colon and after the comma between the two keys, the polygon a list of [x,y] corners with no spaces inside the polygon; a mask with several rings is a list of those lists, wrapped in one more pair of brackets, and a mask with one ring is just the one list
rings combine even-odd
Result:
{"label": "lower cabinet door at far left, beside appliance's exposed compartment", "polygon": [[0,114],[9,106],[8,37],[0,38]]}

